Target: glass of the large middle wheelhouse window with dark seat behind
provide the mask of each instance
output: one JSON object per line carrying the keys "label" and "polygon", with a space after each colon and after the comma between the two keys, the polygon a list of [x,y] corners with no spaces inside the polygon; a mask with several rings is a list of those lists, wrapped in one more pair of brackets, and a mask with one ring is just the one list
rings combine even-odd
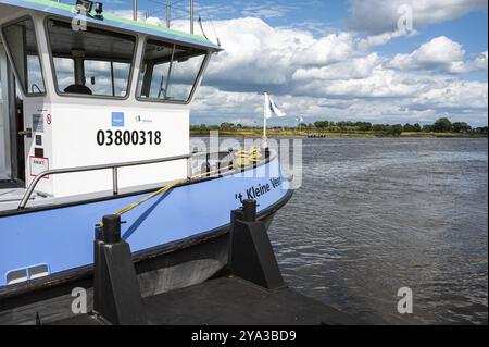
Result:
{"label": "glass of the large middle wheelhouse window with dark seat behind", "polygon": [[128,94],[136,39],[130,35],[48,21],[54,80],[61,95],[124,98]]}

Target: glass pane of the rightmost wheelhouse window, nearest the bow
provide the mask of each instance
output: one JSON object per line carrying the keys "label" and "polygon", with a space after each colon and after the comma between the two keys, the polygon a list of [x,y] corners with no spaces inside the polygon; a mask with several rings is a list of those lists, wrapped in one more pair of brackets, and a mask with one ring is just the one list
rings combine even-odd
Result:
{"label": "glass pane of the rightmost wheelhouse window, nearest the bow", "polygon": [[206,51],[148,40],[138,84],[138,97],[148,101],[188,102]]}

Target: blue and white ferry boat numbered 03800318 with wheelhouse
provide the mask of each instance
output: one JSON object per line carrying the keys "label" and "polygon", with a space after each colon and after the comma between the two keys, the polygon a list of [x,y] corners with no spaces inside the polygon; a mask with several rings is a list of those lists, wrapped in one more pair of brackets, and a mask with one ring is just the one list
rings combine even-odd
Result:
{"label": "blue and white ferry boat numbered 03800318 with wheelhouse", "polygon": [[0,0],[0,324],[71,314],[103,215],[147,296],[225,269],[242,199],[267,225],[290,199],[274,151],[191,153],[205,37],[49,0]]}

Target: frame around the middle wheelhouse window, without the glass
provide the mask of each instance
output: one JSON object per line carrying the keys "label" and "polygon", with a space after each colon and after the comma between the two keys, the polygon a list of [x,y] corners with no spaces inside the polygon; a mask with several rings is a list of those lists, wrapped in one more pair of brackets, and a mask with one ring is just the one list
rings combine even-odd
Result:
{"label": "frame around the middle wheelhouse window, without the glass", "polygon": [[[138,55],[138,48],[139,48],[139,37],[137,35],[135,35],[134,33],[130,32],[125,32],[125,30],[120,30],[116,28],[112,28],[112,27],[106,27],[103,25],[98,25],[98,24],[92,24],[92,23],[87,23],[87,27],[92,27],[99,30],[104,30],[104,32],[109,32],[109,33],[115,33],[115,34],[123,34],[126,36],[130,36],[134,39],[134,50],[133,50],[133,60],[130,62],[130,71],[129,71],[129,77],[127,80],[127,92],[124,97],[112,97],[112,96],[101,96],[101,95],[84,95],[84,94],[73,94],[73,92],[61,92],[59,89],[59,85],[58,85],[58,77],[57,77],[57,72],[55,72],[55,67],[54,67],[54,55],[52,54],[52,49],[51,49],[51,37],[49,35],[49,30],[48,30],[48,23],[49,21],[58,21],[58,22],[63,22],[65,24],[70,24],[70,21],[67,21],[65,17],[61,17],[61,16],[54,16],[54,15],[49,15],[45,18],[45,32],[46,32],[46,40],[48,44],[48,52],[49,52],[49,61],[51,64],[51,75],[52,75],[52,79],[54,83],[54,92],[62,97],[62,98],[83,98],[83,99],[100,99],[100,100],[127,100],[130,98],[130,91],[133,89],[133,77],[134,77],[134,72],[136,70],[136,61],[137,61],[137,55]],[[67,57],[61,57],[61,58],[67,58]],[[89,59],[89,60],[93,60],[93,59]],[[99,61],[106,61],[106,62],[111,62],[111,60],[104,60],[104,59],[98,59]],[[112,62],[118,62],[122,63],[123,61],[121,60],[112,60]]]}

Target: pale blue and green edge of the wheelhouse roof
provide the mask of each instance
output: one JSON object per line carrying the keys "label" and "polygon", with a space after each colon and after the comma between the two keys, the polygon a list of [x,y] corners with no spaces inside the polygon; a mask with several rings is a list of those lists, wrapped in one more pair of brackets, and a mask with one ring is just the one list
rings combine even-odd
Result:
{"label": "pale blue and green edge of the wheelhouse roof", "polygon": [[[70,20],[79,15],[75,10],[74,4],[72,5],[51,0],[0,0],[0,4],[8,4],[21,9],[30,9],[48,14],[64,16]],[[91,12],[90,15],[87,15],[87,22],[98,25],[104,25],[106,27],[112,27],[116,29],[124,29],[134,33],[151,35],[163,39],[170,39],[173,41],[190,44],[215,51],[222,50],[220,46],[211,42],[209,39],[200,35],[191,35],[158,25],[147,24],[142,22],[135,22],[128,18],[118,17],[108,12],[103,13],[103,20],[95,18],[95,12]]]}

